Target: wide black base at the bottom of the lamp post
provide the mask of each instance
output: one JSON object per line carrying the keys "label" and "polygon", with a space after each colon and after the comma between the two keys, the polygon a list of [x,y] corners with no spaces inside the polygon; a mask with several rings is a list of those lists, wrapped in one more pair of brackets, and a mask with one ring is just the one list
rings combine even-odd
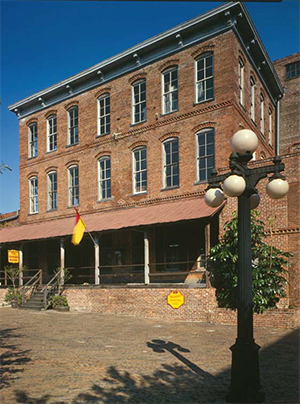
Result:
{"label": "wide black base at the bottom of the lamp post", "polygon": [[232,351],[231,386],[226,395],[228,403],[263,403],[260,390],[258,350],[254,340],[249,343],[237,339]]}

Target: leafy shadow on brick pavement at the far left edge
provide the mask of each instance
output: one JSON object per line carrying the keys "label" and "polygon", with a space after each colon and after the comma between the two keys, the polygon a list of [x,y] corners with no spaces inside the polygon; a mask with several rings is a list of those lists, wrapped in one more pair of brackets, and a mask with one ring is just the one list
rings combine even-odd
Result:
{"label": "leafy shadow on brick pavement at the far left edge", "polygon": [[24,371],[23,365],[31,361],[28,357],[30,350],[20,350],[18,346],[9,341],[20,338],[17,329],[6,328],[0,334],[0,389],[9,386],[11,380],[16,380],[16,374]]}

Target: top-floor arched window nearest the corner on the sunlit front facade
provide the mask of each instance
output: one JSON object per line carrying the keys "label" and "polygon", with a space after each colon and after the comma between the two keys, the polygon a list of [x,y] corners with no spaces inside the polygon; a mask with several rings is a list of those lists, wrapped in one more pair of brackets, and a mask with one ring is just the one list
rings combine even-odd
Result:
{"label": "top-floor arched window nearest the corner on the sunlit front facade", "polygon": [[196,103],[214,97],[214,55],[204,53],[195,60]]}

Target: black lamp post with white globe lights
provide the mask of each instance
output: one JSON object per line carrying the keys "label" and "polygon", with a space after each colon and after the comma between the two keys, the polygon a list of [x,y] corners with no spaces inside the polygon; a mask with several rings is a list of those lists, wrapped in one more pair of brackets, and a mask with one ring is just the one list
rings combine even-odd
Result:
{"label": "black lamp post with white globe lights", "polygon": [[[230,172],[217,175],[212,170],[209,186],[205,194],[208,206],[219,206],[225,195],[238,197],[238,315],[237,338],[230,348],[232,351],[231,386],[226,401],[231,403],[262,403],[264,393],[260,391],[259,358],[260,349],[253,337],[253,299],[252,299],[252,258],[250,211],[255,209],[260,197],[255,188],[257,183],[269,178],[267,194],[279,199],[288,192],[288,183],[280,174],[284,164],[279,156],[274,157],[273,165],[259,168],[248,167],[252,153],[257,148],[258,139],[254,132],[243,129],[230,141]],[[223,185],[223,191],[221,184]]]}

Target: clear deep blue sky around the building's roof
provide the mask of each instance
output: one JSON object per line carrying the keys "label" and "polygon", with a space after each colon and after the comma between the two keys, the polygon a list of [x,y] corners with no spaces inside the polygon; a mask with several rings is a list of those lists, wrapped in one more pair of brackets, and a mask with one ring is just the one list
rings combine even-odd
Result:
{"label": "clear deep blue sky around the building's roof", "polygon": [[[19,202],[18,119],[13,104],[221,2],[0,0],[0,213]],[[300,3],[246,3],[271,60],[299,52]]]}

